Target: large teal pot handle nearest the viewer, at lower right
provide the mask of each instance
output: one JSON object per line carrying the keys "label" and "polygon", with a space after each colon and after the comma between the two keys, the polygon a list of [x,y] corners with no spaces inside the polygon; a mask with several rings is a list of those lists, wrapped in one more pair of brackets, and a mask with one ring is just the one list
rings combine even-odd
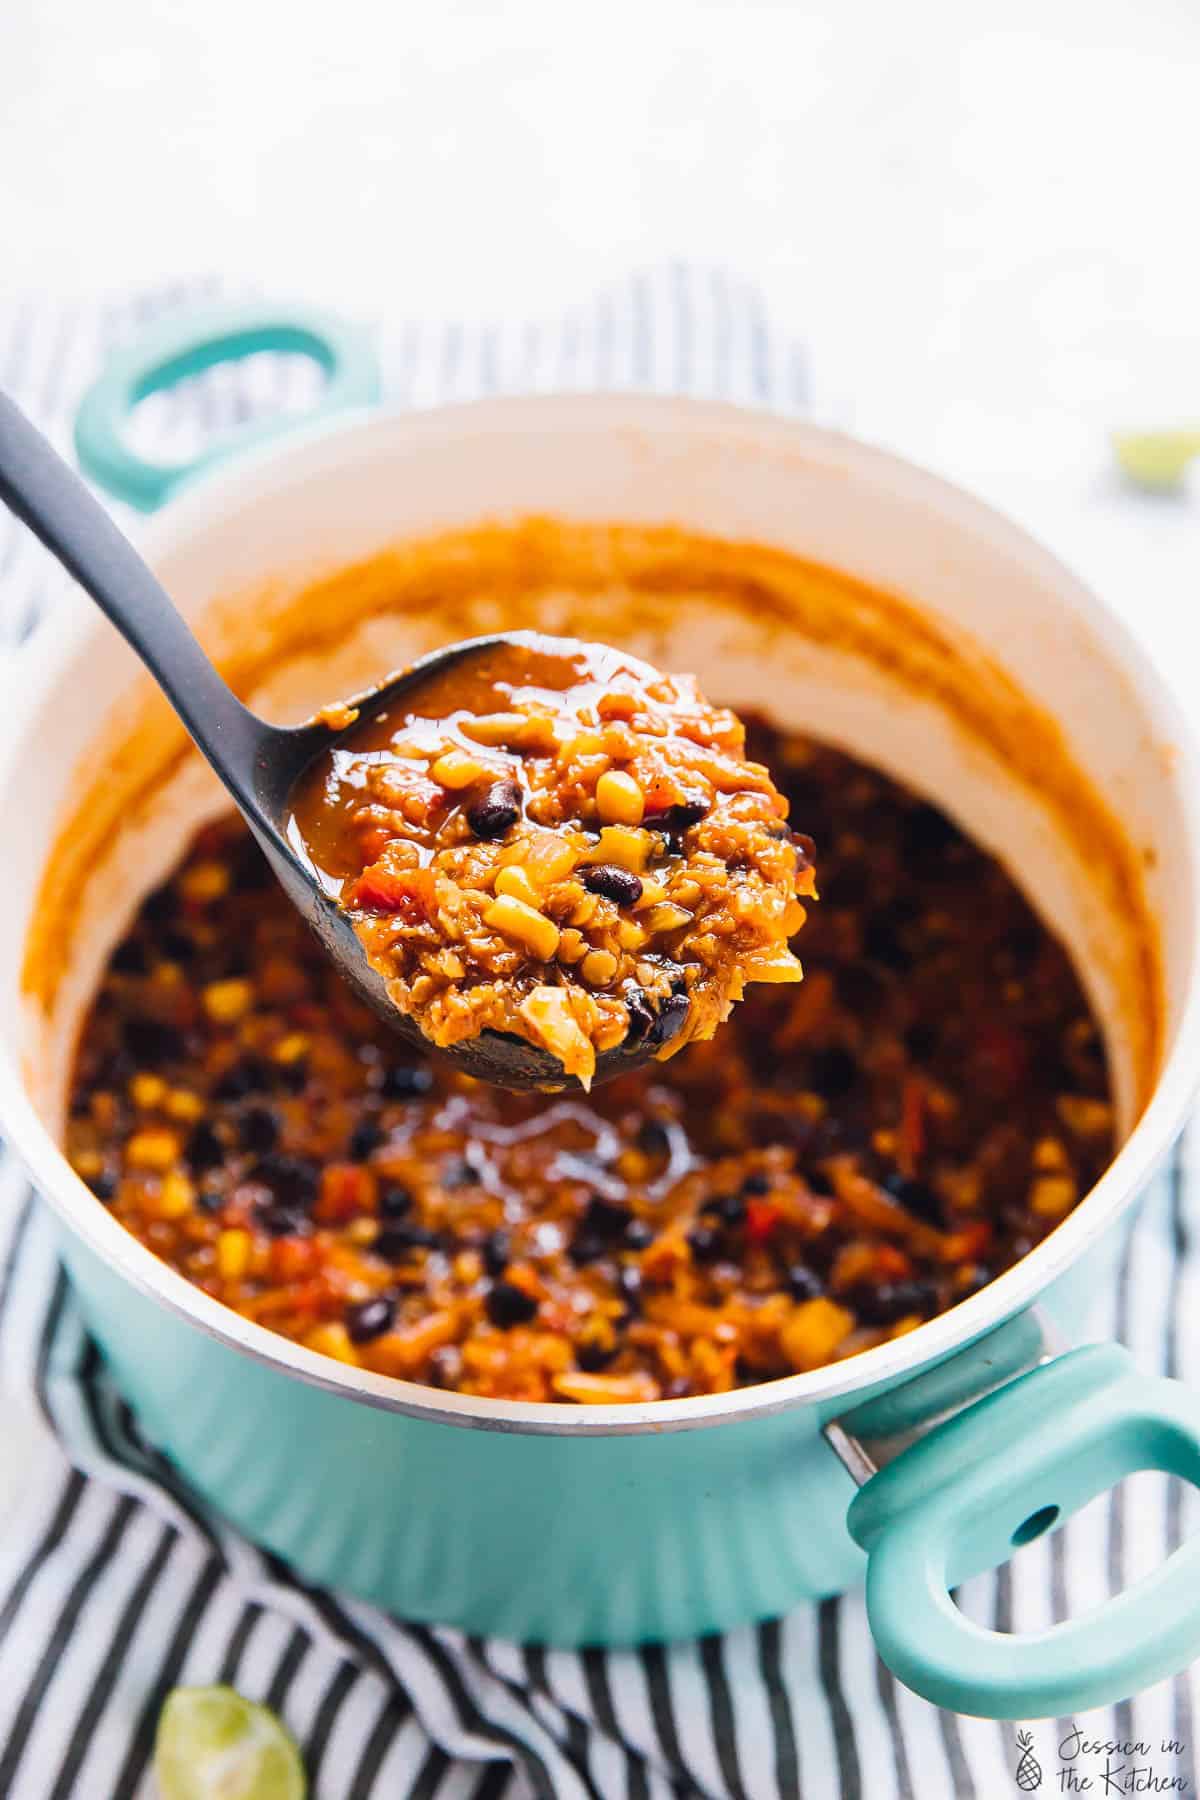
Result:
{"label": "large teal pot handle nearest the viewer, at lower right", "polygon": [[[853,1431],[853,1417],[831,1427],[835,1447]],[[1139,1469],[1200,1487],[1200,1397],[1139,1375],[1117,1345],[1042,1363],[901,1449],[847,1516],[883,1661],[936,1706],[988,1719],[1060,1717],[1186,1669],[1200,1654],[1200,1539],[1049,1631],[984,1631],[950,1597]]]}

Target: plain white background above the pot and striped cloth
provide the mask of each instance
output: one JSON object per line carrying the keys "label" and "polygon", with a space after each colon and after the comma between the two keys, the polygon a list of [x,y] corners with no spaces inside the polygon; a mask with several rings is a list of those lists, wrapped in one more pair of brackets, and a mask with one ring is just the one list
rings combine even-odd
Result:
{"label": "plain white background above the pot and striped cloth", "polygon": [[516,315],[725,261],[1187,682],[1200,500],[1106,430],[1200,419],[1198,77],[1189,0],[0,0],[0,295]]}

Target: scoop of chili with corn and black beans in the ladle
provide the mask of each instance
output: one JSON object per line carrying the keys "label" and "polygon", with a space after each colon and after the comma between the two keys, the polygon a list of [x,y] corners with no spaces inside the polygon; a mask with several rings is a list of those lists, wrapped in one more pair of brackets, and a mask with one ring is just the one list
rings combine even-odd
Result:
{"label": "scoop of chili with corn and black beans in the ladle", "polygon": [[601,644],[518,632],[437,670],[318,760],[291,817],[439,1046],[515,1033],[588,1087],[597,1051],[671,1057],[748,983],[801,979],[811,844],[741,722]]}

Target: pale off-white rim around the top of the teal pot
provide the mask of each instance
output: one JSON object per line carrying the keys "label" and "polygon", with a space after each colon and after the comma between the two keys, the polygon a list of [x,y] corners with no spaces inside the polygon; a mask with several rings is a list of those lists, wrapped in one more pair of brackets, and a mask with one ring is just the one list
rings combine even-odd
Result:
{"label": "pale off-white rim around the top of the teal pot", "polygon": [[[423,437],[446,430],[452,434],[482,428],[504,432],[529,423],[531,418],[542,430],[554,430],[556,425],[561,428],[563,423],[579,414],[587,416],[588,430],[624,428],[657,437],[671,428],[693,437],[696,432],[716,432],[723,437],[747,434],[757,448],[790,452],[802,461],[817,457],[826,464],[842,466],[847,475],[883,481],[892,491],[910,497],[916,504],[925,504],[943,517],[970,522],[997,549],[1018,554],[1027,567],[1036,569],[1054,587],[1063,603],[1097,634],[1108,653],[1115,655],[1132,673],[1139,695],[1150,700],[1164,734],[1169,736],[1175,749],[1173,774],[1186,819],[1189,855],[1196,866],[1200,886],[1200,751],[1175,691],[1124,621],[1105,607],[1031,533],[995,508],[916,463],[828,427],[727,401],[619,392],[491,396],[419,412],[396,407],[367,414],[344,414],[317,427],[300,428],[282,445],[275,441],[245,452],[228,466],[205,473],[194,488],[189,488],[140,533],[142,547],[151,565],[158,565],[167,553],[178,554],[191,538],[203,535],[228,497],[236,495],[237,504],[245,508],[254,504],[259,493],[279,486],[281,479],[297,479],[306,472],[318,473],[322,463],[327,463],[338,445],[347,439],[360,439],[369,446],[372,437],[387,441],[389,434],[399,432],[416,446]],[[5,695],[0,783],[4,783],[4,765],[16,752],[41,693],[61,675],[88,626],[92,626],[88,612],[61,608],[20,650],[20,689]],[[103,628],[99,617],[94,628]],[[327,1393],[430,1422],[556,1436],[685,1431],[813,1404],[831,1415],[838,1408],[828,1402],[867,1388],[892,1386],[916,1370],[964,1348],[1022,1307],[1031,1305],[1132,1204],[1173,1141],[1198,1087],[1200,956],[1193,954],[1175,1044],[1126,1143],[1076,1210],[1042,1244],[981,1292],[959,1301],[957,1307],[905,1337],[804,1375],[786,1375],[730,1393],[682,1400],[572,1408],[561,1402],[491,1400],[372,1375],[367,1370],[351,1368],[306,1350],[302,1345],[223,1307],[160,1262],[97,1204],[36,1112],[16,1060],[11,1055],[0,1057],[0,1118],[34,1188],[88,1249],[137,1291],[254,1361],[275,1368],[282,1375],[299,1377]]]}

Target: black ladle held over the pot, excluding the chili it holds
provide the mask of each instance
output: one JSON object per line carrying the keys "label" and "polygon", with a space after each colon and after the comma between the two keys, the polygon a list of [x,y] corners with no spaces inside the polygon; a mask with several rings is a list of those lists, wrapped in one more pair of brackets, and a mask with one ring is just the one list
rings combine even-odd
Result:
{"label": "black ladle held over the pot, excluding the chili it holds", "polygon": [[[259,841],[284,893],[317,932],[324,950],[363,1001],[401,1037],[432,1053],[421,1028],[387,995],[345,913],[290,842],[284,823],[295,783],[315,756],[338,743],[324,724],[281,729],[241,704],[193,637],[167,592],[104,508],[41,432],[0,394],[0,500],[41,538],[52,556],[92,596],[142,659],[196,747],[225,783]],[[356,725],[392,706],[439,670],[506,641],[473,637],[435,650],[365,697],[354,697]],[[351,727],[353,729],[353,727]],[[631,1033],[633,1035],[633,1033]],[[637,1067],[658,1048],[655,1024],[596,1058],[596,1082]],[[578,1087],[556,1057],[500,1031],[437,1051],[468,1075],[497,1087]]]}

